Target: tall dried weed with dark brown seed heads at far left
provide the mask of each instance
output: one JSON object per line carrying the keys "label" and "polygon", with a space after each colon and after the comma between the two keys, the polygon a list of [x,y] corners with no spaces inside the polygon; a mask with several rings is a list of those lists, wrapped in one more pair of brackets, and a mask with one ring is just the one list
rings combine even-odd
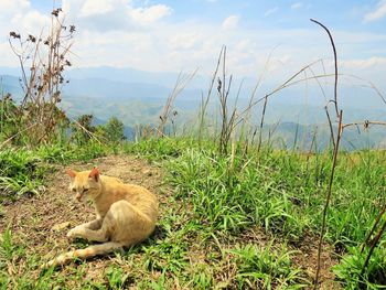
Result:
{"label": "tall dried weed with dark brown seed heads at far left", "polygon": [[36,146],[52,141],[60,127],[68,123],[65,114],[58,109],[62,87],[68,80],[64,71],[68,61],[75,26],[64,25],[61,9],[51,14],[49,33],[39,36],[10,32],[9,43],[21,67],[20,84],[23,98],[20,105],[21,130],[29,129],[28,144]]}

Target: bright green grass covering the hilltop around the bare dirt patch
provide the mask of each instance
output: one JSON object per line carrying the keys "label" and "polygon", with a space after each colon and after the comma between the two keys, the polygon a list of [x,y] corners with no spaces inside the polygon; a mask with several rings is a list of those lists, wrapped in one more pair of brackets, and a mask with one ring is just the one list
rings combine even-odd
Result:
{"label": "bright green grass covering the hilltop around the bare dirt patch", "polygon": [[[322,210],[332,168],[331,153],[302,154],[271,149],[260,153],[218,154],[213,142],[201,146],[192,139],[150,139],[124,143],[111,150],[52,146],[1,152],[4,178],[19,186],[44,184],[50,164],[69,164],[122,152],[157,161],[167,171],[168,197],[156,234],[146,243],[115,254],[103,280],[85,279],[82,264],[71,268],[72,280],[84,289],[299,289],[310,288],[309,271],[294,262],[303,240],[318,239]],[[382,205],[386,202],[383,151],[341,152],[328,211],[325,240],[339,259],[333,267],[342,288],[379,289],[385,283],[385,237],[361,276],[364,254],[358,251]],[[50,176],[50,175],[47,175]],[[15,185],[17,186],[17,185]],[[15,187],[14,194],[22,192]],[[244,239],[261,229],[261,245]],[[66,288],[71,281],[61,271],[28,278],[40,257],[25,256],[22,244],[2,233],[0,284],[2,288]],[[308,239],[307,239],[308,240]],[[18,258],[19,257],[19,258]],[[201,257],[201,258],[199,258]],[[23,277],[7,275],[7,265],[26,260]],[[0,288],[1,289],[1,288]]]}

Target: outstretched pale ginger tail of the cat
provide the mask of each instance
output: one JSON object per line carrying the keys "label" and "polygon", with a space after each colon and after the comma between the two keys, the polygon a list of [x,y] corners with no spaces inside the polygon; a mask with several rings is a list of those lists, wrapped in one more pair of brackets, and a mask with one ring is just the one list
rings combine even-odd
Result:
{"label": "outstretched pale ginger tail of the cat", "polygon": [[100,245],[93,245],[85,249],[71,250],[65,254],[57,256],[49,262],[41,266],[42,269],[47,269],[50,267],[56,267],[65,265],[74,259],[87,259],[97,255],[104,255],[111,253],[116,249],[121,249],[125,246],[124,243],[108,241]]}

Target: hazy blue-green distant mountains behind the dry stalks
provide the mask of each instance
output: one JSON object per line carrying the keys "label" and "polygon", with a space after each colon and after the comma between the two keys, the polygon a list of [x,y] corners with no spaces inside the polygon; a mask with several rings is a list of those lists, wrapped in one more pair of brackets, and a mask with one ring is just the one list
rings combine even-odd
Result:
{"label": "hazy blue-green distant mountains behind the dry stalks", "polygon": [[[12,69],[3,69],[6,73],[12,73]],[[3,93],[11,93],[14,99],[22,97],[22,88],[19,78],[12,75],[6,75],[0,67],[1,86]],[[14,72],[14,69],[13,69]],[[71,118],[77,118],[83,114],[93,114],[96,123],[105,123],[110,117],[115,116],[124,121],[127,135],[132,135],[133,127],[137,125],[153,125],[159,121],[159,116],[165,104],[167,97],[171,94],[173,84],[178,74],[173,73],[149,73],[130,68],[79,68],[68,72],[69,83],[63,88],[63,100],[61,107]],[[130,79],[130,80],[128,80]],[[147,83],[147,82],[154,83]],[[163,82],[163,84],[162,84]],[[199,76],[197,83],[205,83],[203,77]],[[208,82],[207,82],[208,84]],[[203,89],[190,88],[187,86],[176,97],[174,109],[178,111],[175,122],[182,127],[183,123],[194,122],[197,116],[202,96],[205,96],[207,86]],[[236,94],[236,86],[229,94],[233,98]],[[344,109],[345,122],[363,120],[384,120],[386,117],[386,106],[380,104],[375,106],[368,104],[358,106],[363,92],[357,89],[356,95],[341,89],[341,103]],[[286,143],[288,148],[298,147],[308,149],[312,142],[312,136],[318,128],[318,143],[321,148],[329,144],[330,132],[326,125],[326,116],[323,109],[324,100],[315,95],[317,90],[309,92],[305,98],[305,105],[302,104],[303,96],[299,97],[299,92],[286,89],[272,96],[268,103],[264,135],[268,138],[268,131],[276,128],[274,138],[276,143],[281,147]],[[329,94],[331,92],[328,92]],[[212,93],[208,105],[208,116],[218,118],[218,99],[216,92]],[[250,89],[242,89],[238,100],[238,108],[247,107],[249,103]],[[378,101],[378,100],[377,100]],[[379,101],[378,101],[379,103]],[[234,105],[234,99],[229,100],[229,108]],[[262,103],[256,105],[253,111],[253,122],[259,123]],[[279,125],[276,127],[276,123]],[[271,123],[271,125],[270,125]],[[373,127],[366,133],[358,135],[355,128],[346,130],[343,143],[349,149],[372,147],[385,147],[386,135],[382,127]],[[298,131],[298,135],[296,132]],[[130,137],[130,136],[128,136]],[[297,142],[294,139],[297,138]],[[278,141],[282,140],[282,141]]]}

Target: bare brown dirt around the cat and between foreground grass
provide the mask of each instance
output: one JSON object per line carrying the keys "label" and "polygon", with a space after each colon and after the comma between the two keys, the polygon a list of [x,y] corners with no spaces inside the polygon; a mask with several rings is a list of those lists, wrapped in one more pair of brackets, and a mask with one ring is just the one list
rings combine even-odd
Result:
{"label": "bare brown dirt around the cat and between foreground grass", "polygon": [[[94,165],[98,167],[101,174],[116,176],[126,183],[139,184],[154,192],[160,200],[160,218],[167,213],[165,208],[170,206],[168,198],[170,198],[171,191],[167,190],[163,184],[162,170],[157,165],[149,164],[149,162],[135,157],[109,155],[95,159],[86,164],[75,163],[71,165],[71,169],[77,171],[90,170]],[[3,218],[0,218],[1,233],[9,227],[15,243],[25,246],[28,254],[42,257],[45,261],[58,254],[76,248],[76,244],[71,244],[66,239],[67,230],[95,217],[93,205],[85,201],[77,202],[72,192],[68,191],[69,178],[65,173],[64,167],[58,167],[50,180],[51,182],[43,194],[23,197],[11,205],[4,206]],[[228,248],[239,243],[254,243],[264,246],[270,239],[271,237],[267,236],[261,229],[255,228],[243,233],[233,240],[228,239],[225,244],[222,243],[222,246]],[[200,243],[195,246],[194,240],[192,240],[192,253],[189,254],[191,262],[197,261],[200,257],[204,258],[207,254],[205,251],[211,250],[211,247],[200,248]],[[318,258],[318,238],[308,237],[293,249],[299,251],[294,255],[294,265],[304,269],[309,277],[313,277]],[[333,275],[330,272],[331,266],[335,265],[337,260],[332,255],[331,246],[324,245],[324,249],[321,271],[322,289],[339,289],[337,284],[333,282]],[[130,266],[119,261],[119,256],[97,257],[82,266],[85,267],[86,279],[104,280],[104,277],[101,277],[104,270],[112,260],[121,265],[125,270],[130,270],[128,269]],[[12,264],[8,271],[11,276],[18,276],[18,273],[20,275],[25,270],[25,267],[28,267],[25,261],[20,260]],[[217,278],[219,280],[226,279],[226,276],[232,276],[234,270],[232,265],[229,265],[229,268],[225,266],[223,271],[218,273],[224,277]],[[69,276],[73,270],[71,267],[65,267],[62,271]],[[33,275],[37,276],[39,271],[36,270]]]}

